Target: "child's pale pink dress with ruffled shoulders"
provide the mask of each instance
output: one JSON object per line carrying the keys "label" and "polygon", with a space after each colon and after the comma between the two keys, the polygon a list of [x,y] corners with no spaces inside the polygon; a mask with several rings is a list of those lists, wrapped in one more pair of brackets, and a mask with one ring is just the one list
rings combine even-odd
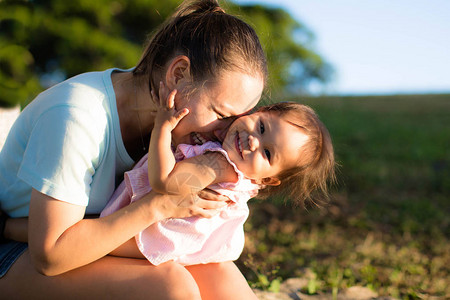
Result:
{"label": "child's pale pink dress with ruffled shoulders", "polygon": [[[244,177],[219,143],[179,145],[175,158],[180,161],[207,151],[222,153],[238,175],[238,181],[235,183],[226,182],[209,186],[210,189],[227,196],[232,203],[210,219],[200,217],[167,219],[141,231],[136,235],[137,246],[153,265],[170,260],[182,265],[236,260],[244,248],[243,225],[249,214],[247,201],[256,196],[259,186]],[[151,191],[147,165],[146,155],[133,170],[125,173],[124,181],[114,192],[101,217],[138,201]]]}

